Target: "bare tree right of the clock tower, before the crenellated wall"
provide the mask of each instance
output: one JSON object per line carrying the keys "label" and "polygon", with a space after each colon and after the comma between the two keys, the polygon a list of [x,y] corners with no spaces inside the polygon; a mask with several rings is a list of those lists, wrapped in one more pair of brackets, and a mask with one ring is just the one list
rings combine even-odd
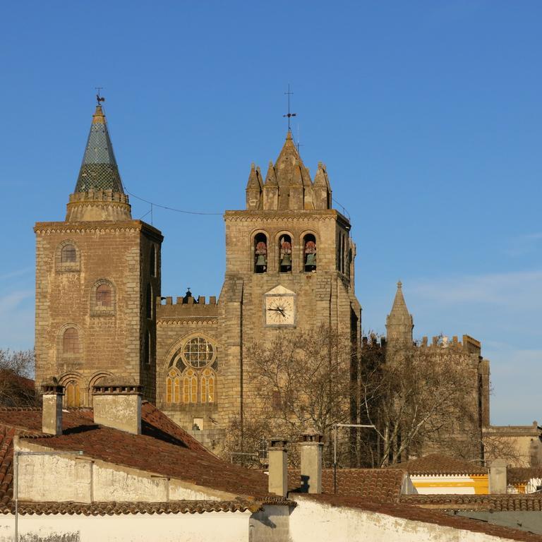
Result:
{"label": "bare tree right of the clock tower, before the crenellated wall", "polygon": [[372,341],[363,349],[362,415],[378,439],[366,445],[374,466],[430,451],[481,457],[476,369],[450,348],[401,344],[385,352]]}

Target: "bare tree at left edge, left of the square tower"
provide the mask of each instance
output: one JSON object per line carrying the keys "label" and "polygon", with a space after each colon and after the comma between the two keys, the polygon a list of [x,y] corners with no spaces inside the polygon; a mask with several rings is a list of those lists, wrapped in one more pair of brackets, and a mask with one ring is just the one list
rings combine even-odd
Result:
{"label": "bare tree at left edge, left of the square tower", "polygon": [[0,349],[0,405],[35,404],[33,350]]}

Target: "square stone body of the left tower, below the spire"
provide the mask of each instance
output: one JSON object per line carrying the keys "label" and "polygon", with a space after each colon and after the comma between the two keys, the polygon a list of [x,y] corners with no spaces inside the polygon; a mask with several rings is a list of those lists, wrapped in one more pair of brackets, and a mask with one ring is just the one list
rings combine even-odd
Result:
{"label": "square stone body of the left tower, below the spire", "polygon": [[[90,404],[97,380],[122,375],[143,384],[145,398],[154,401],[155,314],[147,309],[147,287],[152,302],[160,295],[162,235],[139,220],[38,222],[35,233],[37,383],[53,376],[64,385],[77,383],[80,404]],[[61,249],[68,243],[76,248],[76,260],[65,263]],[[155,276],[150,272],[153,247]],[[106,282],[112,285],[112,306],[103,308],[96,290]],[[78,347],[66,352],[63,336],[72,327]]]}

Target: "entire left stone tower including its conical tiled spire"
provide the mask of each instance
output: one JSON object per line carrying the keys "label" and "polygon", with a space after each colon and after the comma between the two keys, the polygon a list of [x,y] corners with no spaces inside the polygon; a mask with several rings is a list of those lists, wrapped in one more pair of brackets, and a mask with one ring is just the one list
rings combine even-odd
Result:
{"label": "entire left stone tower including its conical tiled spire", "polygon": [[37,222],[36,382],[88,405],[92,385],[122,377],[155,399],[156,228],[133,220],[100,102],[64,222]]}

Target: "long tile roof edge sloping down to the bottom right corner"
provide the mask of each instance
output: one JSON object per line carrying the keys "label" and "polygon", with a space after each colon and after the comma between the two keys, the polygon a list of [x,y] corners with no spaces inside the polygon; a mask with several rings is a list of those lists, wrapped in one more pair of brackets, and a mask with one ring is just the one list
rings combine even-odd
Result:
{"label": "long tile roof edge sloping down to the bottom right corner", "polygon": [[401,503],[372,502],[354,497],[344,497],[341,495],[306,495],[307,498],[327,503],[331,506],[351,507],[365,510],[366,512],[375,512],[386,514],[393,517],[409,519],[414,522],[423,522],[438,524],[440,526],[452,527],[452,529],[464,529],[478,533],[498,536],[508,540],[517,540],[522,542],[542,542],[542,536],[532,534],[518,529],[510,529],[486,522],[477,521],[461,516],[454,516],[441,512],[440,510],[427,510],[418,506],[406,505]]}

